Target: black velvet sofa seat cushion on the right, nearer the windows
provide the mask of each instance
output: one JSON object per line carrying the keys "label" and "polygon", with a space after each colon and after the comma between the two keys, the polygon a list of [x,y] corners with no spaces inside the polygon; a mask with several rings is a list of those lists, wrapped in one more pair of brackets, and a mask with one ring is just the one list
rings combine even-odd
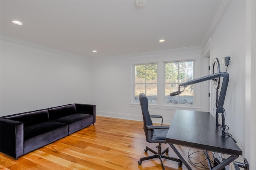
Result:
{"label": "black velvet sofa seat cushion on the right, nearer the windows", "polygon": [[88,114],[76,113],[54,120],[68,125],[68,135],[92,125],[94,117]]}

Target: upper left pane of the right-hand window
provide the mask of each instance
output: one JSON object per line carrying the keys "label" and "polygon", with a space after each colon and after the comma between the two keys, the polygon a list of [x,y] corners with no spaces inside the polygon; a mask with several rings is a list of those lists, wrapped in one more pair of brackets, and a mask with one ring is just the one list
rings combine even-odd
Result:
{"label": "upper left pane of the right-hand window", "polygon": [[165,82],[178,82],[178,67],[174,63],[165,64]]}

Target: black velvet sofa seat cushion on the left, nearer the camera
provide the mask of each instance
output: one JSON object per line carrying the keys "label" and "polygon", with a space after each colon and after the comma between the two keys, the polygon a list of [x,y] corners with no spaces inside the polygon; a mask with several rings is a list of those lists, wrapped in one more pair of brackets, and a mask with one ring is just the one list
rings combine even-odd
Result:
{"label": "black velvet sofa seat cushion on the left, nearer the camera", "polygon": [[68,135],[68,125],[59,122],[44,122],[24,128],[24,154],[43,147]]}

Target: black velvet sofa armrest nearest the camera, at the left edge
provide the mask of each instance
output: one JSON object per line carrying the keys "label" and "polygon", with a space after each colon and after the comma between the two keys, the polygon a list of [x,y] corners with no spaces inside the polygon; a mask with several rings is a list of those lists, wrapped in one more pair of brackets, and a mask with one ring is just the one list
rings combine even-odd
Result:
{"label": "black velvet sofa armrest nearest the camera, at the left edge", "polygon": [[24,125],[0,117],[0,151],[18,159],[23,155]]}

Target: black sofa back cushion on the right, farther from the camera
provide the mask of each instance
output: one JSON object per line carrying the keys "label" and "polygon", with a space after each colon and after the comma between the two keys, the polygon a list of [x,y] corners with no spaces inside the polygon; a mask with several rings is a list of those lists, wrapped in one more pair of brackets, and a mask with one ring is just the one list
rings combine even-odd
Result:
{"label": "black sofa back cushion on the right, farther from the camera", "polygon": [[48,109],[50,121],[76,113],[76,105],[69,104]]}

